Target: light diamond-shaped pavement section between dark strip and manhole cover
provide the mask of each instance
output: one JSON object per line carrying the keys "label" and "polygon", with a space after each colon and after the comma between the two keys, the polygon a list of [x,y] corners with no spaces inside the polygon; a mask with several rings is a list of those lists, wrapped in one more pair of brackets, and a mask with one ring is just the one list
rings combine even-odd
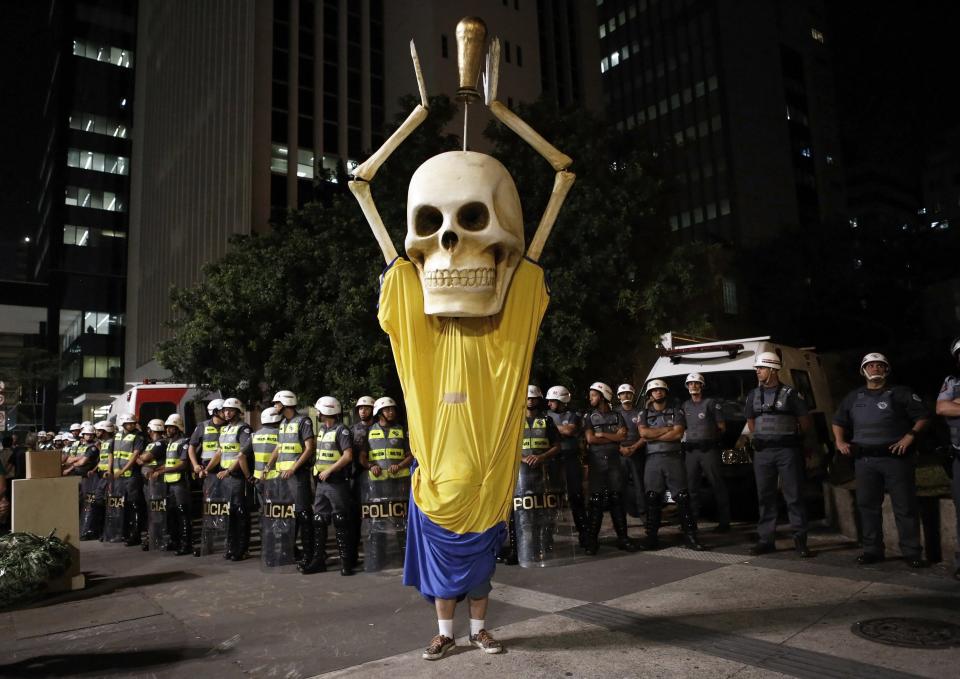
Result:
{"label": "light diamond-shaped pavement section between dark strip and manhole cover", "polygon": [[606,603],[643,615],[781,643],[865,586],[841,578],[730,565]]}

